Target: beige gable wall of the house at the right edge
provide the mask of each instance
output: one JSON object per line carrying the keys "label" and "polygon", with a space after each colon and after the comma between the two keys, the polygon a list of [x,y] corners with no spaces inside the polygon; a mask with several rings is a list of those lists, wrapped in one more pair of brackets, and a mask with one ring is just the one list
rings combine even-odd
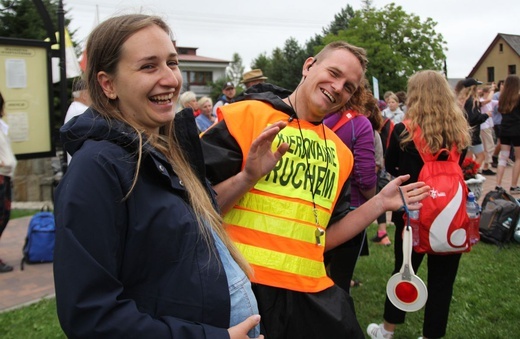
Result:
{"label": "beige gable wall of the house at the right edge", "polygon": [[[503,46],[502,52],[500,52],[500,44]],[[498,82],[499,80],[504,80],[509,75],[509,65],[516,65],[516,74],[519,74],[520,56],[504,39],[500,38],[472,77],[484,83],[490,82],[487,69],[488,67],[494,67],[495,79],[493,81]]]}

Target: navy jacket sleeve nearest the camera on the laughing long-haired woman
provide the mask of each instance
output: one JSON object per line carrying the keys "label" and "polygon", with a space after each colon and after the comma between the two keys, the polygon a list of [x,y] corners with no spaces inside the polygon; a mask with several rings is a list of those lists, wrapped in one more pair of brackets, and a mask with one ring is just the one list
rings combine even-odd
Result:
{"label": "navy jacket sleeve nearest the camera on the laughing long-haired woman", "polygon": [[118,277],[129,208],[123,198],[133,171],[114,160],[125,154],[121,148],[99,144],[75,153],[56,192],[54,279],[67,337],[229,338],[227,329],[167,315],[152,318],[122,296]]}

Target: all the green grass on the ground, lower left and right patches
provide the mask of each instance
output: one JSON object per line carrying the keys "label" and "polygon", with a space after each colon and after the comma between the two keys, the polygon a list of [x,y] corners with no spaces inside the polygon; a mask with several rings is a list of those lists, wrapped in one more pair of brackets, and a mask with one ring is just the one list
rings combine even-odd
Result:
{"label": "all the green grass on the ground, lower left and right patches", "polygon": [[[389,227],[393,240],[393,227]],[[376,232],[370,226],[369,235]],[[362,328],[381,322],[386,282],[393,267],[393,246],[370,243],[370,255],[361,257],[354,276],[363,282],[352,289]],[[520,244],[499,250],[479,243],[462,256],[455,282],[446,338],[520,337]],[[418,274],[426,281],[426,262]],[[396,338],[417,338],[423,311],[409,313],[397,328]],[[54,299],[0,313],[0,338],[65,338],[56,317]]]}

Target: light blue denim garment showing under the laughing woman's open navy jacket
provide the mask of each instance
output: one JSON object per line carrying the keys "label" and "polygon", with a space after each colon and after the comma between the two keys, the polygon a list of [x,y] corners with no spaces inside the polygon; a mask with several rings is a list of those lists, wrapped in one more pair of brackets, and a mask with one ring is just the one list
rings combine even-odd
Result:
{"label": "light blue denim garment showing under the laughing woman's open navy jacket", "polygon": [[[213,232],[215,245],[220,255],[220,261],[224,266],[228,280],[229,296],[231,300],[231,314],[229,326],[235,326],[246,320],[248,317],[258,314],[258,304],[251,289],[251,282],[244,271],[238,266],[236,261],[229,253],[226,245],[219,236]],[[260,335],[260,325],[251,329],[248,333],[250,338],[257,338]]]}

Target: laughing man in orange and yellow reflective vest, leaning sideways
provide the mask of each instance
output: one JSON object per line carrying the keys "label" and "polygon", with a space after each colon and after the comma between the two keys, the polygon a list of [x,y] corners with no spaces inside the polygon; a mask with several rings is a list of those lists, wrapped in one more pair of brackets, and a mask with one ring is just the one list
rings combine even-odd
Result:
{"label": "laughing man in orange and yellow reflective vest, leaning sideways", "polygon": [[[254,86],[246,100],[221,106],[219,123],[202,137],[226,229],[254,269],[266,338],[364,338],[350,296],[327,277],[323,253],[399,208],[395,185],[403,178],[349,213],[352,153],[322,120],[361,100],[366,65],[363,49],[333,42],[305,61],[294,92]],[[272,168],[252,142],[278,128],[262,145],[279,159]]]}

